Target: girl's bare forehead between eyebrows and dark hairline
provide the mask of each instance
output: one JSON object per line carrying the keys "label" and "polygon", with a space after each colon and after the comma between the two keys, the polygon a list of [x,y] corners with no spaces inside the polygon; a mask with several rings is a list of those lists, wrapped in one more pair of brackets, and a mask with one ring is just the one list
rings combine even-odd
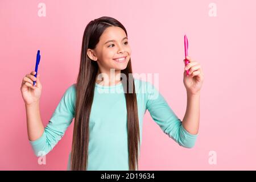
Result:
{"label": "girl's bare forehead between eyebrows and dark hairline", "polygon": [[100,41],[106,42],[108,40],[122,40],[124,37],[126,37],[125,31],[123,31],[120,27],[108,27],[105,29],[103,34],[100,37]]}

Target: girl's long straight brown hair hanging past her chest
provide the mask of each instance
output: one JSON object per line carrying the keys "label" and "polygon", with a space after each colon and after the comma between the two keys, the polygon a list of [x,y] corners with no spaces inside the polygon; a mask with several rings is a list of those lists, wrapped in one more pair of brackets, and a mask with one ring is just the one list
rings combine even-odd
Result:
{"label": "girl's long straight brown hair hanging past her chest", "polygon": [[[103,16],[88,23],[82,38],[80,68],[76,83],[76,111],[71,151],[71,170],[86,170],[88,166],[89,119],[98,64],[88,57],[87,49],[94,49],[100,40],[101,34],[110,26],[121,27],[127,36],[125,27],[118,20]],[[138,169],[140,135],[134,78],[132,74],[129,74],[132,73],[131,59],[127,67],[121,70],[121,73],[124,73],[126,78],[129,78],[122,79],[123,89],[133,90],[133,92],[125,92],[125,98],[127,109],[129,170],[136,170],[136,167]]]}

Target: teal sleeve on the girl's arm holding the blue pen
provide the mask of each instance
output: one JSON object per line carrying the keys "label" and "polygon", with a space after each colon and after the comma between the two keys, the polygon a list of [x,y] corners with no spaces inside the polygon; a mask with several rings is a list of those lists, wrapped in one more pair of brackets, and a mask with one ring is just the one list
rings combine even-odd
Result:
{"label": "teal sleeve on the girl's arm holding the blue pen", "polygon": [[59,104],[44,128],[43,135],[34,140],[29,140],[36,156],[46,155],[64,136],[67,127],[71,125],[75,116],[75,84],[65,91]]}

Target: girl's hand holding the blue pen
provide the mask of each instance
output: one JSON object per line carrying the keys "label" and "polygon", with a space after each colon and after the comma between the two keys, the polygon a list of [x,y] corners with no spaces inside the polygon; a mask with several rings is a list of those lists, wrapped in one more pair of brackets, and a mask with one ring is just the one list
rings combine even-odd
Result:
{"label": "girl's hand holding the blue pen", "polygon": [[[20,87],[22,98],[26,105],[34,104],[40,100],[42,84],[40,82],[40,74],[35,77],[35,73],[35,71],[32,71],[30,74],[23,77]],[[34,86],[33,81],[36,81]]]}

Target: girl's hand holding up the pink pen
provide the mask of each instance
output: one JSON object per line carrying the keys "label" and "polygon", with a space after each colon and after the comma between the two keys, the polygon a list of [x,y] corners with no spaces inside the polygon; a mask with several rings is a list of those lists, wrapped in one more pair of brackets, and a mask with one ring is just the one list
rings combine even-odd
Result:
{"label": "girl's hand holding up the pink pen", "polygon": [[[197,63],[197,61],[191,59],[191,57],[187,56],[187,60],[189,63],[184,68],[184,78],[183,83],[185,88],[187,89],[187,93],[189,94],[200,94],[200,89],[203,85],[204,74],[201,68],[201,65]],[[185,60],[184,64],[185,64]],[[187,70],[188,77],[187,77]]]}

